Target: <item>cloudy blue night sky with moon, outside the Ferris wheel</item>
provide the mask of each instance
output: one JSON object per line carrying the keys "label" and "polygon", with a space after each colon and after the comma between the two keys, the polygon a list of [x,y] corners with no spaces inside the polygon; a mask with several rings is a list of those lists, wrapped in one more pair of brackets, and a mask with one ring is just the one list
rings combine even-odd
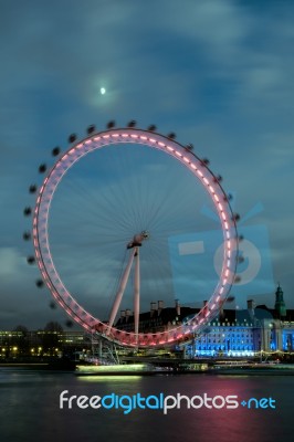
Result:
{"label": "cloudy blue night sky with moon, outside the Ferris wheel", "polygon": [[0,1],[0,329],[64,324],[27,264],[22,212],[51,149],[111,119],[210,159],[266,261],[243,299],[272,307],[280,282],[294,308],[293,21],[291,1]]}

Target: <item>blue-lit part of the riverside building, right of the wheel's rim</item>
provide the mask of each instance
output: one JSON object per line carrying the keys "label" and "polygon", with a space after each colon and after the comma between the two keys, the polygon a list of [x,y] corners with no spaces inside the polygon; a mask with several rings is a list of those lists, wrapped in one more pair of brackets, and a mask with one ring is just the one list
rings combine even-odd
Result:
{"label": "blue-lit part of the riverside building, right of the wheel's rim", "polygon": [[186,346],[189,357],[241,357],[260,351],[294,351],[294,311],[286,311],[280,285],[274,309],[265,305],[255,308],[249,301],[244,311],[222,311]]}

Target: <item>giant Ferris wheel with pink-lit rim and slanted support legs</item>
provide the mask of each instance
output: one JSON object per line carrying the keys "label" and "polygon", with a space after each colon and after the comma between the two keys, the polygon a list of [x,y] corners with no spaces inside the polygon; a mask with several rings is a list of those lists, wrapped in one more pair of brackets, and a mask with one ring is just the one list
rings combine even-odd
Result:
{"label": "giant Ferris wheel with pink-lit rim and slanted support legs", "polygon": [[[43,283],[67,315],[87,332],[125,346],[150,347],[179,341],[200,333],[229,296],[238,264],[238,232],[230,198],[221,178],[192,145],[181,145],[157,133],[155,126],[96,131],[52,154],[51,168],[35,193],[32,215],[34,256]],[[219,280],[209,299],[185,325],[170,325],[157,333],[140,330],[140,313],[150,302],[171,305],[175,277],[169,239],[199,229],[199,208],[209,201],[218,214],[223,251]],[[213,259],[212,259],[213,260]],[[198,278],[197,269],[189,284]],[[195,291],[197,292],[197,291]],[[193,297],[193,296],[192,296]],[[195,298],[190,305],[195,305]],[[132,330],[116,327],[119,309],[132,308]]]}

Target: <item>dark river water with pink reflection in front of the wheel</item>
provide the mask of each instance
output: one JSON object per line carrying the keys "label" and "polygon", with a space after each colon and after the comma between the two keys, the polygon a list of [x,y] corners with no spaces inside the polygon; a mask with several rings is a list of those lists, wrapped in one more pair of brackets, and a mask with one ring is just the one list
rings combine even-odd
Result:
{"label": "dark river water with pink reflection in front of the wheel", "polygon": [[[80,408],[60,394],[107,396],[108,409]],[[76,377],[72,372],[27,371],[0,368],[0,433],[6,442],[87,441],[201,441],[274,442],[293,440],[293,376],[154,376]],[[126,397],[150,398],[149,408],[126,407]],[[176,408],[155,409],[156,398],[197,397]],[[125,397],[125,408],[111,408],[113,398]],[[201,398],[216,398],[202,406]],[[229,408],[228,397],[238,397]],[[249,399],[250,408],[248,406]],[[86,399],[81,400],[85,404]],[[243,402],[243,406],[241,404]],[[106,403],[106,401],[105,401]],[[212,406],[211,406],[212,403]],[[246,404],[245,404],[246,403]],[[93,402],[94,404],[94,402]],[[134,404],[134,403],[133,403]],[[175,406],[174,408],[172,404]],[[214,406],[216,407],[214,407]],[[224,404],[224,406],[223,406]],[[223,407],[222,407],[223,406]],[[153,408],[154,407],[154,408]],[[219,407],[219,408],[218,408]],[[256,407],[259,407],[256,409]]]}

